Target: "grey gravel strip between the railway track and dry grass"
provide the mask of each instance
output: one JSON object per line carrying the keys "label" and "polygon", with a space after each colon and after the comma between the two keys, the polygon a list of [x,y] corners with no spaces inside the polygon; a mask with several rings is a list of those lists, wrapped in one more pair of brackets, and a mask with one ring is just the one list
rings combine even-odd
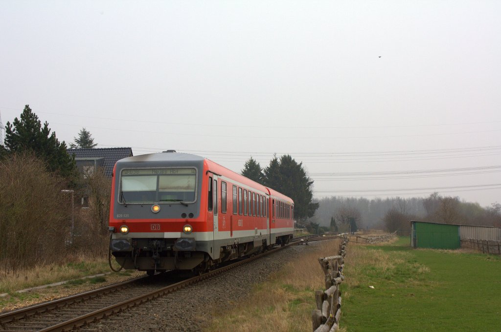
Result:
{"label": "grey gravel strip between the railway track and dry grass", "polygon": [[308,246],[295,245],[262,259],[205,279],[175,293],[137,305],[127,311],[82,326],[80,331],[200,331],[212,318],[234,303],[245,301],[256,283]]}

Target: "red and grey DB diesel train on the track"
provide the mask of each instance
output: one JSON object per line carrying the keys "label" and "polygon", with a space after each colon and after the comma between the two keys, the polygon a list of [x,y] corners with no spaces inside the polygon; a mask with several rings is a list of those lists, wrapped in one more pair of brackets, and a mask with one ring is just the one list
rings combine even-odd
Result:
{"label": "red and grey DB diesel train on the track", "polygon": [[291,198],[193,154],[118,160],[111,190],[110,250],[125,269],[203,271],[294,233]]}

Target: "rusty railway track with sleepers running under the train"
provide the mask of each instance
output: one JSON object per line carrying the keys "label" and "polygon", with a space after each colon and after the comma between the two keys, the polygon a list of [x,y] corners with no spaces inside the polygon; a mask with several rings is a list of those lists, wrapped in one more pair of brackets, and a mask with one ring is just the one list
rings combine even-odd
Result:
{"label": "rusty railway track with sleepers running under the train", "polygon": [[[334,237],[336,236],[310,235],[308,240],[324,240]],[[301,237],[295,238],[289,245],[296,245],[300,242]],[[6,312],[0,314],[0,332],[71,330],[136,304],[179,290],[241,264],[259,259],[284,247],[268,250],[254,257],[181,281],[179,281],[179,278],[176,280],[165,275],[167,273],[157,274],[153,277],[145,276],[55,301]]]}

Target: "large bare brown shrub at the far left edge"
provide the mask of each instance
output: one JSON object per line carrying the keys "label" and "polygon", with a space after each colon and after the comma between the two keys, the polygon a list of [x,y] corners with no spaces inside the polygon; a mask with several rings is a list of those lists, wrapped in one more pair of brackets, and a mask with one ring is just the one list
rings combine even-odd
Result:
{"label": "large bare brown shrub at the far left edge", "polygon": [[64,178],[25,152],[0,160],[0,263],[3,269],[57,262],[70,240],[71,197]]}

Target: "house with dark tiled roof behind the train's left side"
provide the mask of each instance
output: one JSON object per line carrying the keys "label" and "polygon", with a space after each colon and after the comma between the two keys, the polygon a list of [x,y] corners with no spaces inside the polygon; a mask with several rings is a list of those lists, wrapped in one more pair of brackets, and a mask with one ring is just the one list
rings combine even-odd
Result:
{"label": "house with dark tiled roof behind the train's left side", "polygon": [[117,160],[133,156],[131,147],[69,148],[67,151],[75,155],[78,170],[84,177],[97,167],[103,167],[104,174],[111,177]]}

